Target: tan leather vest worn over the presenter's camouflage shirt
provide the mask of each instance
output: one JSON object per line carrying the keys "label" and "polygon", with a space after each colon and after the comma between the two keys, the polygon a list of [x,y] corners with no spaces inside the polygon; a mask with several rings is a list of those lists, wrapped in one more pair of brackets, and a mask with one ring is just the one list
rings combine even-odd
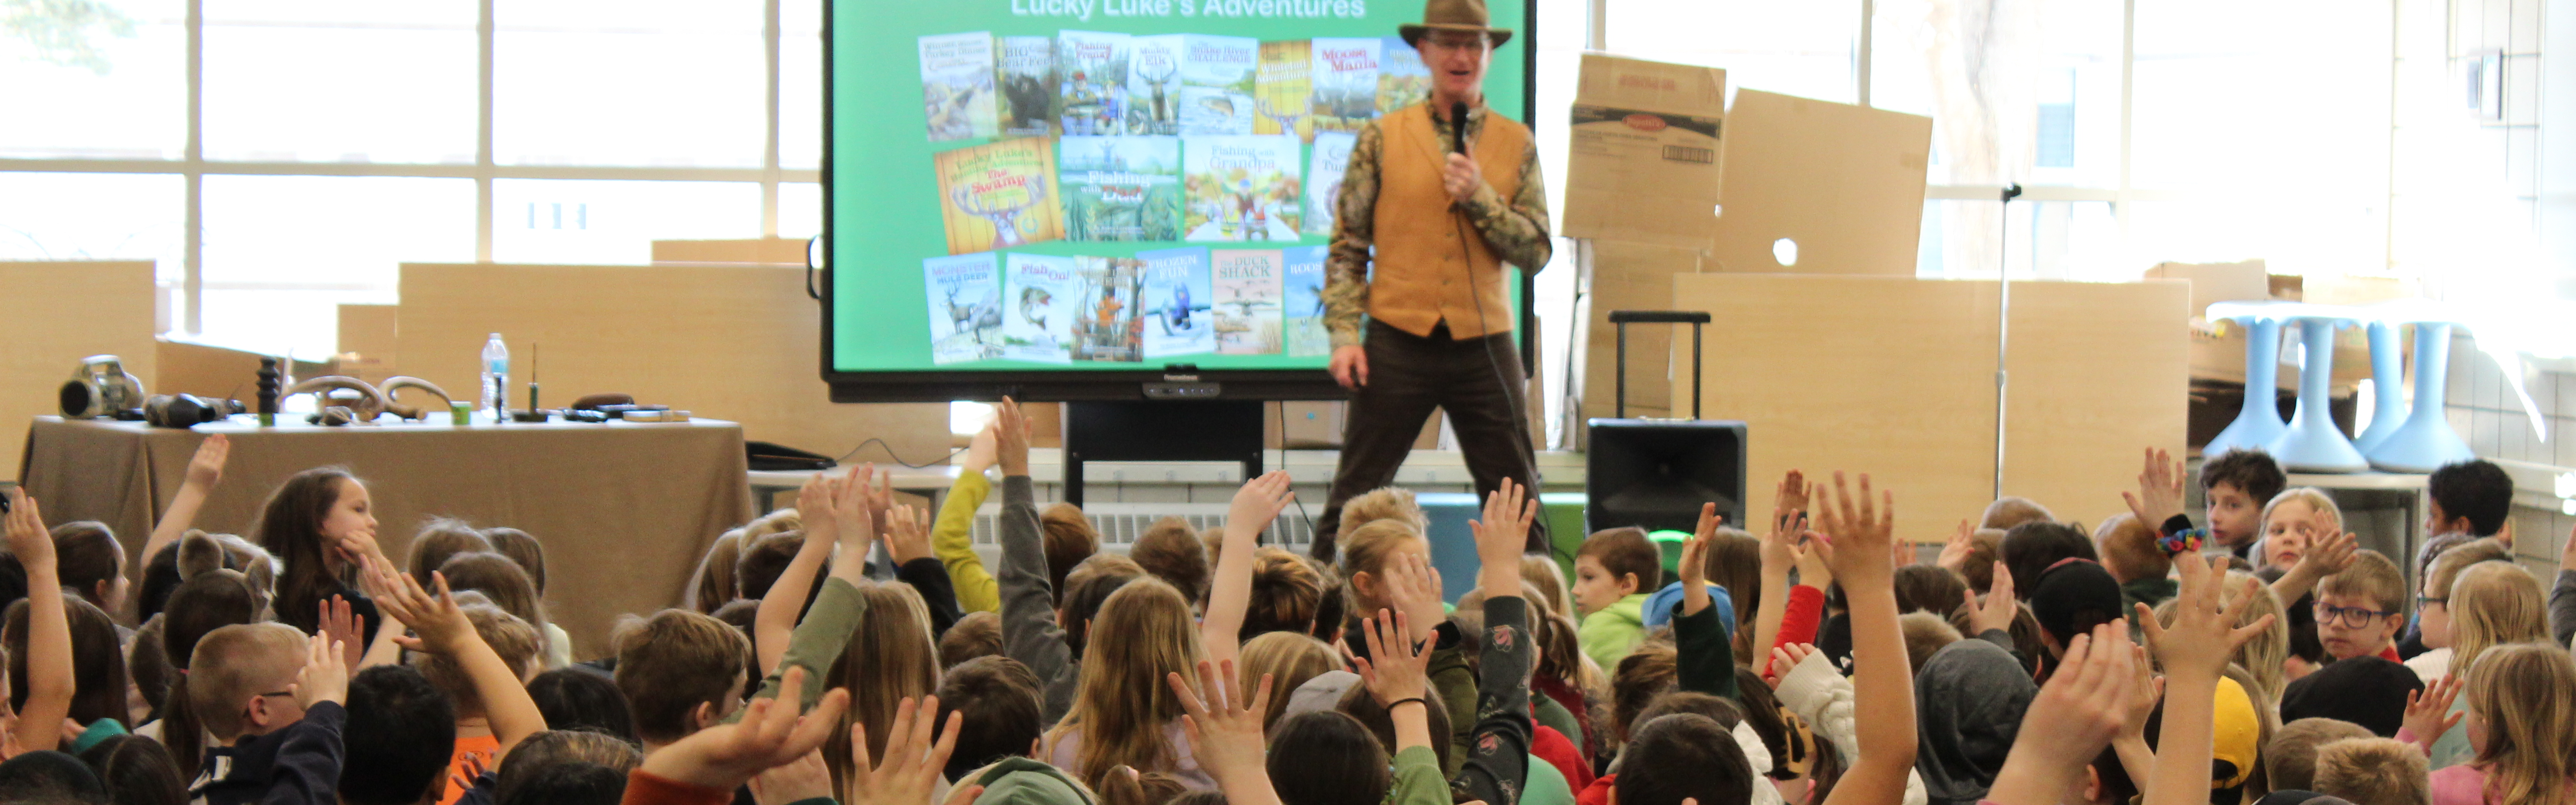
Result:
{"label": "tan leather vest worn over the presenter's camouflage shirt", "polygon": [[[1378,253],[1368,271],[1368,317],[1414,335],[1430,335],[1440,320],[1448,320],[1453,338],[1510,333],[1512,297],[1502,261],[1440,188],[1448,139],[1432,129],[1430,103],[1399,108],[1378,119],[1378,126],[1386,147],[1378,152]],[[1492,111],[1484,111],[1484,126],[1468,144],[1484,168],[1484,183],[1502,199],[1520,194],[1520,160],[1528,150],[1530,129]]]}

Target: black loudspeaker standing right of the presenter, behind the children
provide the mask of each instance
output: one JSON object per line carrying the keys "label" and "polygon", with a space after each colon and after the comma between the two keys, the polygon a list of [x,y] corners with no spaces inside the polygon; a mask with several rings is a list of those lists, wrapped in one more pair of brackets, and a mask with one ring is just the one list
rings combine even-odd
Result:
{"label": "black loudspeaker standing right of the presenter, behind the children", "polygon": [[1690,532],[1700,503],[1744,529],[1744,423],[1597,418],[1584,475],[1584,526]]}

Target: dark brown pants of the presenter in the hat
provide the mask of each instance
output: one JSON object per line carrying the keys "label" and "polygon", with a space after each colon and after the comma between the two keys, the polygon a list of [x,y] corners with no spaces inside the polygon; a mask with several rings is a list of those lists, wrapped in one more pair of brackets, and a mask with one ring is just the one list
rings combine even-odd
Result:
{"label": "dark brown pants of the presenter in the hat", "polygon": [[[1314,555],[1334,557],[1334,534],[1342,524],[1342,503],[1396,480],[1396,467],[1412,454],[1414,439],[1432,408],[1445,410],[1458,431],[1458,452],[1466,454],[1466,472],[1476,477],[1476,495],[1489,495],[1510,477],[1538,490],[1538,454],[1530,449],[1530,426],[1522,413],[1520,348],[1515,333],[1484,338],[1450,338],[1448,323],[1430,335],[1396,330],[1386,323],[1368,323],[1368,384],[1350,395],[1350,415],[1342,426],[1342,467],[1332,472],[1332,495],[1324,498],[1324,519],[1314,524]],[[1481,519],[1481,516],[1479,516]],[[1546,521],[1530,524],[1530,550],[1546,552]]]}

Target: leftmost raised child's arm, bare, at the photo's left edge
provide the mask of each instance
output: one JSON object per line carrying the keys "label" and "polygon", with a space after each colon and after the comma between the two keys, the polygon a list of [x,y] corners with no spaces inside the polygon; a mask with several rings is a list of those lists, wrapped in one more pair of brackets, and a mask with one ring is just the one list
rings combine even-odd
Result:
{"label": "leftmost raised child's arm, bare, at the photo's left edge", "polygon": [[18,746],[62,746],[62,720],[72,712],[72,622],[62,611],[62,575],[54,570],[54,534],[26,488],[10,493],[8,550],[26,568],[26,707],[18,710]]}

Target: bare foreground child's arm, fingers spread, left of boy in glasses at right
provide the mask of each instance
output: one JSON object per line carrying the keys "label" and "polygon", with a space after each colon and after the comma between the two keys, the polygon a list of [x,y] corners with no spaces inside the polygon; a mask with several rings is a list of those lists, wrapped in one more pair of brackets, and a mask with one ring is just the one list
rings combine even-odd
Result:
{"label": "bare foreground child's arm, fingers spread, left of boy in glasses at right", "polygon": [[2156,771],[2143,784],[2146,805],[2208,800],[2218,673],[2239,645],[2272,627],[2269,614],[2233,627],[2254,588],[2226,596],[2226,575],[2197,552],[2177,555],[2174,570],[2182,570],[2182,593],[2174,596],[2172,627],[2159,627],[2156,614],[2138,604],[2138,627],[2164,663],[2164,735],[2156,740]]}

